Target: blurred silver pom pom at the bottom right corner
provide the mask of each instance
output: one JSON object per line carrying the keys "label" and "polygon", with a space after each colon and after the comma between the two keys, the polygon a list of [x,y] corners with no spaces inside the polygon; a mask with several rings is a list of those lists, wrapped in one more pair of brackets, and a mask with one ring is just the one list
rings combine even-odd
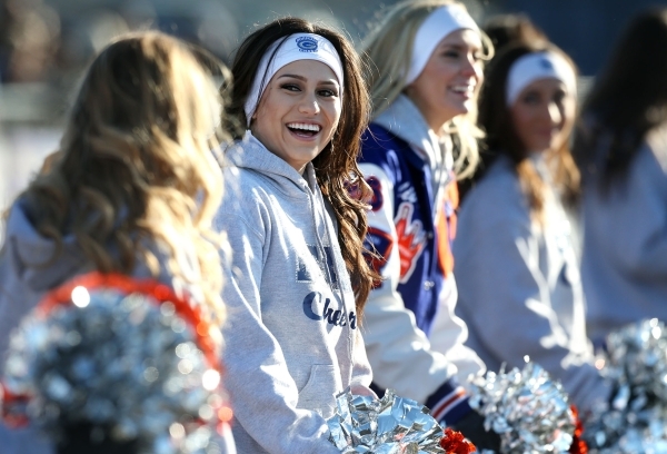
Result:
{"label": "blurred silver pom pom at the bottom right corner", "polygon": [[667,453],[667,328],[656,318],[607,336],[603,375],[614,385],[609,408],[586,424],[589,452]]}

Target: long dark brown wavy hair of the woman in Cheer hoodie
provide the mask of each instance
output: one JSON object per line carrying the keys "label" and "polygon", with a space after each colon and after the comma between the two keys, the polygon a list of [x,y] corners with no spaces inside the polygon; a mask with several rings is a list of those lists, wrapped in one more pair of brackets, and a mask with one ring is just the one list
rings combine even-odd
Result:
{"label": "long dark brown wavy hair of the woman in Cheer hoodie", "polygon": [[[338,243],[342,250],[347,270],[355,289],[357,312],[362,314],[364,305],[379,276],[364,258],[364,237],[368,229],[366,211],[372,195],[357,166],[361,132],[368,124],[369,98],[361,78],[360,61],[350,42],[338,31],[303,19],[277,19],[256,30],[241,43],[236,52],[231,73],[235,83],[231,88],[228,118],[237,125],[247,125],[243,105],[250,92],[259,61],[269,46],[293,33],[316,33],[328,39],[340,57],[345,79],[342,112],[334,138],[312,160],[317,181],[322,195],[334,207],[338,219]],[[236,138],[240,139],[240,132]],[[349,190],[354,185],[357,190]],[[354,194],[354,195],[352,195]]]}

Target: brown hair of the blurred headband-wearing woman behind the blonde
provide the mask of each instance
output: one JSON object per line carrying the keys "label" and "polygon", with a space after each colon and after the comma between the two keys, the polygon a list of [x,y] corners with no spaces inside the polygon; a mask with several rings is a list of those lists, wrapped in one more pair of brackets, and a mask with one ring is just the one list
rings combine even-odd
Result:
{"label": "brown hair of the blurred headband-wearing woman behind the blonde", "polygon": [[[506,86],[515,61],[528,53],[547,50],[561,55],[576,71],[574,61],[551,43],[519,42],[508,46],[489,65],[479,103],[479,124],[487,134],[486,148],[488,152],[481,155],[482,166],[480,166],[476,179],[484,176],[484,171],[499,155],[508,156],[515,164],[521,189],[528,199],[530,214],[537,220],[542,219],[546,182],[528,159],[530,150],[526,148],[514,126],[512,116],[507,107]],[[552,181],[559,190],[563,201],[567,205],[574,204],[579,194],[579,170],[573,159],[569,141],[565,140],[558,150],[551,150],[547,155],[547,161],[552,171]]]}

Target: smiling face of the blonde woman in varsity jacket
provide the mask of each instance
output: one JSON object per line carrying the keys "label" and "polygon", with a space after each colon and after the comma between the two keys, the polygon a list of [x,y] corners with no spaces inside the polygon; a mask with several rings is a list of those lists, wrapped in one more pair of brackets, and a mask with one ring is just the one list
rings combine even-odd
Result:
{"label": "smiling face of the blonde woman in varsity jacket", "polygon": [[419,77],[406,88],[432,130],[475,105],[484,80],[481,38],[472,30],[456,30],[442,38]]}

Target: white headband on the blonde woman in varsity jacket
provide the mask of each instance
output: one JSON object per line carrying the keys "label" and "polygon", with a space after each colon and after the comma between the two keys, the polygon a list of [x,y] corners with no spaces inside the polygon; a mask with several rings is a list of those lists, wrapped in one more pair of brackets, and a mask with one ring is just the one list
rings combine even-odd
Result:
{"label": "white headband on the blonde woman in varsity jacket", "polygon": [[479,32],[479,27],[460,4],[447,4],[434,10],[421,23],[412,43],[412,60],[406,77],[406,86],[412,83],[424,71],[428,59],[442,38],[452,31],[470,29]]}

